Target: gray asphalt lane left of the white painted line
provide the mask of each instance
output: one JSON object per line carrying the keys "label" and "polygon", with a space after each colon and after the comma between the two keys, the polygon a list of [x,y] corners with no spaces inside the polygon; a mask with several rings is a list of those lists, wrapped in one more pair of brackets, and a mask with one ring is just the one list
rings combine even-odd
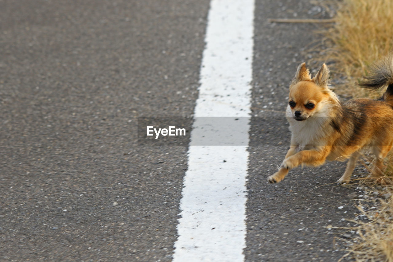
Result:
{"label": "gray asphalt lane left of the white painted line", "polygon": [[192,114],[208,7],[0,1],[0,260],[171,260],[187,147],[136,117]]}

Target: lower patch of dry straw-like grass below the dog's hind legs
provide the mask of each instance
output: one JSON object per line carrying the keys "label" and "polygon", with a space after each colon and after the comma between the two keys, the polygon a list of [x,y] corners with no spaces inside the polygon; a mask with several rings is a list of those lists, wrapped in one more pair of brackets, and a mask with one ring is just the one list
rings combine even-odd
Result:
{"label": "lower patch of dry straw-like grass below the dog's hind legs", "polygon": [[[360,162],[371,172],[366,164],[372,162],[371,154],[363,155]],[[342,228],[357,235],[344,240],[347,253],[339,260],[351,258],[357,262],[393,262],[393,151],[385,160],[385,176],[378,180],[361,178],[356,185],[364,190],[363,199],[356,206],[360,213],[353,220],[354,227]],[[360,181],[360,182],[359,182]],[[381,184],[382,182],[382,184]]]}

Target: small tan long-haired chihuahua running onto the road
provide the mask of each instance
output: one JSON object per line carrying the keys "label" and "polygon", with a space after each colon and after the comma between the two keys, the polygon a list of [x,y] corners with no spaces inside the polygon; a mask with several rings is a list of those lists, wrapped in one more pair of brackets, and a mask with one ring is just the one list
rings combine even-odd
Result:
{"label": "small tan long-haired chihuahua running onto the road", "polygon": [[284,179],[299,165],[320,166],[325,161],[349,159],[337,182],[348,183],[356,159],[364,148],[375,155],[373,176],[383,170],[382,160],[393,146],[393,55],[371,68],[362,87],[382,89],[382,98],[360,98],[342,104],[329,88],[330,71],[325,64],[310,76],[306,64],[299,65],[290,83],[286,117],[290,124],[291,144],[278,172],[270,183]]}

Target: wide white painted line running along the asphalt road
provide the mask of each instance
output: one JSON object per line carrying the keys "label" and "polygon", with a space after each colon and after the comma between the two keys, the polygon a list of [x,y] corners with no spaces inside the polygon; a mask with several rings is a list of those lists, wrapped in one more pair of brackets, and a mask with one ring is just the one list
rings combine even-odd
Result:
{"label": "wide white painted line running along the asphalt road", "polygon": [[[254,0],[211,0],[210,5],[176,262],[244,260]],[[233,137],[244,137],[240,146],[193,146],[203,132],[201,116],[233,117]],[[239,117],[243,121],[235,120]]]}

